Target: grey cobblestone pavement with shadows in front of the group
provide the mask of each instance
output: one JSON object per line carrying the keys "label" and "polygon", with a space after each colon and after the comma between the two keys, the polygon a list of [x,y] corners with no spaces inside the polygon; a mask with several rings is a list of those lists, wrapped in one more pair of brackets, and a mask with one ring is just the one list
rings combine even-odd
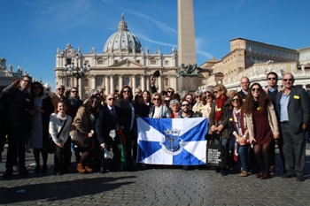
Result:
{"label": "grey cobblestone pavement with shadows in front of the group", "polygon": [[[6,152],[6,150],[5,150]],[[4,173],[6,153],[0,163]],[[240,178],[238,172],[221,177],[204,167],[184,171],[181,167],[157,166],[137,172],[105,174],[53,174],[49,156],[47,174],[34,173],[35,160],[27,153],[29,175],[14,172],[11,179],[0,177],[3,205],[310,205],[310,156],[306,156],[306,181],[280,179],[279,155],[275,177]],[[73,158],[74,160],[74,158]],[[74,161],[73,161],[74,162]]]}

